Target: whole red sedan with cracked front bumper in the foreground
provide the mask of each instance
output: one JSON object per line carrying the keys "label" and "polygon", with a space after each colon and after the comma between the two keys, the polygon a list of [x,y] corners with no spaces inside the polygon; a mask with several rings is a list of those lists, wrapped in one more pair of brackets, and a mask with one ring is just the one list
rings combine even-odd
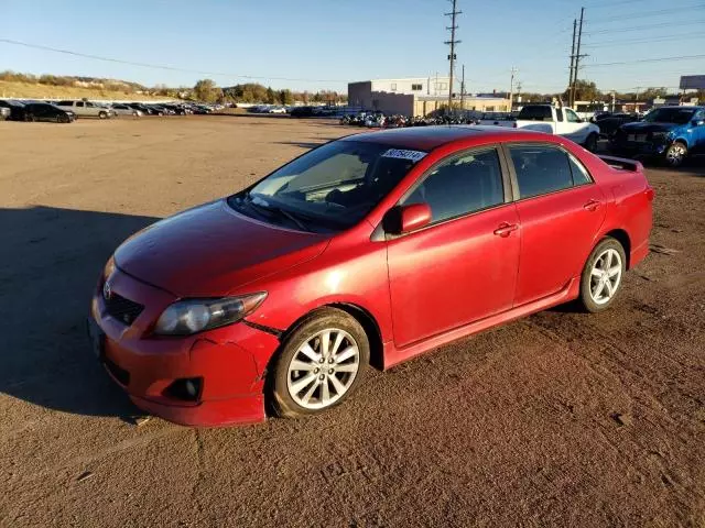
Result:
{"label": "whole red sedan with cracked front bumper in the foreground", "polygon": [[220,426],[321,413],[368,364],[554,305],[604,310],[653,200],[639,163],[604,160],[482,127],[327,143],[120,245],[94,349],[139,407]]}

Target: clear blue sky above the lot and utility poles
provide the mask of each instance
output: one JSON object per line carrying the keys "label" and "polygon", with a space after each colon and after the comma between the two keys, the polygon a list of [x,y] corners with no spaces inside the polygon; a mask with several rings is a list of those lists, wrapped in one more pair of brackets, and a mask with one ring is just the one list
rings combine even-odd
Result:
{"label": "clear blue sky above the lot and utility poles", "polygon": [[[0,38],[171,66],[102,62],[0,42],[0,70],[85,75],[149,86],[220,86],[345,91],[347,81],[447,75],[447,0],[2,0]],[[468,91],[558,91],[568,77],[572,22],[586,7],[581,78],[603,90],[677,87],[705,74],[705,0],[458,0]],[[648,28],[646,28],[648,26]],[[634,29],[637,28],[637,29]],[[639,29],[640,28],[640,29]],[[650,41],[648,41],[650,40]],[[619,41],[619,42],[609,42]],[[660,57],[698,58],[636,63]],[[606,63],[628,63],[605,65]],[[224,75],[204,75],[195,72]],[[247,79],[242,76],[252,76]],[[300,79],[300,80],[283,80]]]}

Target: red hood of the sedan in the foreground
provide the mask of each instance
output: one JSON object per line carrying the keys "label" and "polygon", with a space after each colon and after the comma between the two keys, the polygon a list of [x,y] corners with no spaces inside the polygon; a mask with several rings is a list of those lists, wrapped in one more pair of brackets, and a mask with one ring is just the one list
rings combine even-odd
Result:
{"label": "red hood of the sedan in the foreground", "polygon": [[328,240],[259,222],[218,200],[132,235],[115,260],[123,272],[178,297],[217,297],[314,258]]}

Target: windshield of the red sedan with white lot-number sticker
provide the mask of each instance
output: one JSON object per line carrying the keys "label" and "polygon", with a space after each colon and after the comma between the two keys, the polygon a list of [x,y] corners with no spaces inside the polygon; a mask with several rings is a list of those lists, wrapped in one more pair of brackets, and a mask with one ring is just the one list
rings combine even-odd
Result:
{"label": "windshield of the red sedan with white lot-number sticker", "polygon": [[[296,223],[311,231],[341,230],[359,222],[392,190],[425,152],[336,141],[315,148],[229,199],[248,216]],[[291,217],[295,218],[291,218]]]}

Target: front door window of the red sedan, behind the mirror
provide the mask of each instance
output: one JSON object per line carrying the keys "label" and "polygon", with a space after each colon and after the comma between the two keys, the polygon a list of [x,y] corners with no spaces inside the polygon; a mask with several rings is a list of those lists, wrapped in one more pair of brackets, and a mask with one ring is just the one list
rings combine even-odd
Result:
{"label": "front door window of the red sedan, behind the mirror", "polygon": [[453,156],[426,176],[402,205],[427,204],[432,221],[487,209],[505,201],[502,173],[495,148]]}

